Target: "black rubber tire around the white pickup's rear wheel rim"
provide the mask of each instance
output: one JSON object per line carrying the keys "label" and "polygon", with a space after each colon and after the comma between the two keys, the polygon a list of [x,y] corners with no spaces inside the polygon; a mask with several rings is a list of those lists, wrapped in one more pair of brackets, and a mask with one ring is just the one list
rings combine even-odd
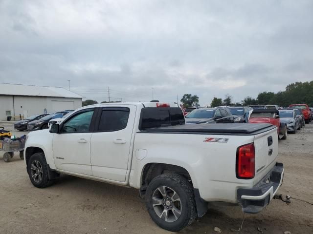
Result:
{"label": "black rubber tire around the white pickup's rear wheel rim", "polygon": [[[158,216],[153,206],[153,195],[156,193],[157,189],[161,188],[162,186],[172,189],[172,191],[175,191],[179,197],[179,202],[181,204],[180,215],[175,221],[165,221],[164,219],[162,219],[161,217],[164,217],[166,215],[163,215],[162,213],[161,217]],[[166,195],[170,196],[168,195],[168,193],[166,193]],[[172,195],[172,198],[173,197],[174,195]],[[162,207],[162,205],[158,206]],[[197,208],[193,187],[185,177],[180,176],[176,173],[162,174],[160,176],[156,176],[150,182],[146,192],[146,207],[148,209],[150,217],[158,226],[172,232],[178,232],[187,225],[192,224],[197,217]],[[170,215],[170,211],[168,212]],[[172,214],[172,216],[174,216],[174,212],[172,212]]]}

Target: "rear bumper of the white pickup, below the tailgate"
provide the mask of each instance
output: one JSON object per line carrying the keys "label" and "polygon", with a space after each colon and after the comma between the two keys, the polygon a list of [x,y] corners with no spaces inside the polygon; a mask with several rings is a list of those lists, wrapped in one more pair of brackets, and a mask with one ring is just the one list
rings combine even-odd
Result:
{"label": "rear bumper of the white pickup, below the tailgate", "polygon": [[277,162],[273,169],[251,189],[238,189],[237,195],[242,210],[255,214],[263,210],[283,183],[284,165]]}

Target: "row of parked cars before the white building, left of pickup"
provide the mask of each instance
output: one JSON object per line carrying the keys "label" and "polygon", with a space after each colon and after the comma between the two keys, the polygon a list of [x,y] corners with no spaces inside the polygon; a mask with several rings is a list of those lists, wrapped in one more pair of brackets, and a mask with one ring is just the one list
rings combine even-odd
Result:
{"label": "row of parked cars before the white building, left of pickup", "polygon": [[33,115],[23,120],[17,121],[14,124],[14,129],[19,131],[34,131],[49,128],[51,119],[62,118],[72,110],[59,111],[51,114]]}

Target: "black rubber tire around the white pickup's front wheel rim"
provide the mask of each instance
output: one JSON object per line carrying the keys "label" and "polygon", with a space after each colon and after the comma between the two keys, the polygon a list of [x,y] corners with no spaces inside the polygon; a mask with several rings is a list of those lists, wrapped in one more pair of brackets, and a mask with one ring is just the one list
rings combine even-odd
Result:
{"label": "black rubber tire around the white pickup's front wheel rim", "polygon": [[[32,176],[32,173],[34,173],[35,169],[31,169],[32,167],[32,164],[36,164],[36,161],[40,163],[41,165],[41,169],[42,169],[42,173],[39,173],[41,174],[41,179],[40,177],[38,176],[38,181],[35,181],[36,177],[33,178]],[[47,167],[45,166],[46,165],[46,160],[45,160],[45,155],[44,153],[36,153],[36,154],[33,154],[28,163],[27,163],[27,173],[28,173],[28,176],[29,176],[29,179],[31,181],[31,183],[37,187],[37,188],[45,188],[45,187],[48,187],[52,184],[52,180],[49,179],[48,177],[48,169]],[[39,169],[40,167],[38,167]],[[37,173],[36,173],[37,174]]]}

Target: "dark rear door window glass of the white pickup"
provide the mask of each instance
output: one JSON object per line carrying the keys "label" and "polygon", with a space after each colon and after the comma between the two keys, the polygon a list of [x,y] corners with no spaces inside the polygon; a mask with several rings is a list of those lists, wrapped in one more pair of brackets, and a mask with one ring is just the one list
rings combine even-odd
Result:
{"label": "dark rear door window glass of the white pickup", "polygon": [[129,108],[119,108],[119,110],[103,109],[98,131],[113,132],[126,128],[129,112]]}

